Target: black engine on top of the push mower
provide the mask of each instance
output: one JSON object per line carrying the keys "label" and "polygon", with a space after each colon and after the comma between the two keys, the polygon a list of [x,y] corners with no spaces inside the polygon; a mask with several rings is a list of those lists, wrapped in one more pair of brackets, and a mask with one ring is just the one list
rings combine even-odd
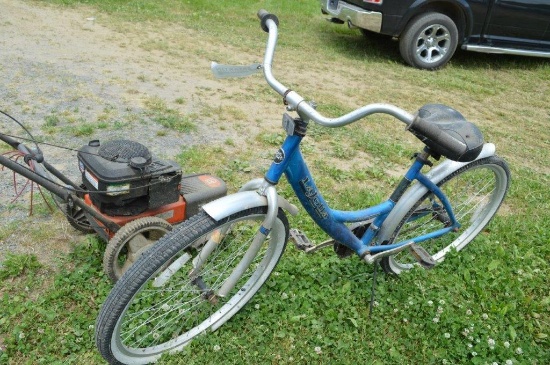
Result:
{"label": "black engine on top of the push mower", "polygon": [[77,153],[82,182],[100,212],[138,215],[177,202],[181,167],[129,140],[90,141]]}

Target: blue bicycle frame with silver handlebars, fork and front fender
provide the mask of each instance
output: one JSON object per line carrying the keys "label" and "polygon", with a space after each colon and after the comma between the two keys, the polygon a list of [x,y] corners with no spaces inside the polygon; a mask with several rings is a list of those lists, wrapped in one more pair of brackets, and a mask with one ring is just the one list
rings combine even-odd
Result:
{"label": "blue bicycle frame with silver handlebars, fork and front fender", "polygon": [[[269,15],[267,12],[260,10],[258,16],[261,19],[262,29],[268,32],[263,64],[261,66],[258,64],[250,66],[230,66],[213,63],[212,71],[217,77],[242,77],[248,76],[257,70],[263,70],[264,77],[269,86],[283,97],[287,110],[297,112],[299,118],[293,119],[287,114],[284,115],[283,127],[287,132],[287,137],[278,150],[264,179],[252,180],[245,184],[240,192],[234,196],[227,196],[203,206],[204,211],[213,219],[222,219],[242,210],[243,206],[266,206],[266,218],[255,237],[255,242],[259,242],[268,236],[276,219],[279,207],[289,210],[291,214],[296,213],[296,208],[286,202],[286,200],[280,198],[275,189],[275,186],[284,174],[302,206],[323,231],[336,242],[353,250],[367,263],[374,263],[383,257],[395,255],[412,244],[442,236],[452,230],[457,230],[460,227],[460,223],[457,222],[451,204],[437,186],[437,182],[439,181],[440,175],[442,175],[441,172],[448,173],[451,169],[457,169],[459,166],[462,166],[463,163],[455,163],[454,161],[443,162],[439,165],[441,168],[438,166],[432,170],[434,171],[433,175],[428,174],[428,176],[426,176],[421,173],[421,169],[429,163],[428,157],[430,154],[427,151],[422,152],[420,154],[422,156],[417,156],[415,162],[409,168],[388,200],[358,211],[341,211],[329,207],[322,194],[317,189],[315,181],[309,172],[299,148],[300,142],[305,136],[309,121],[314,121],[316,124],[324,127],[334,128],[356,122],[372,114],[382,113],[391,115],[407,126],[410,126],[415,120],[415,116],[394,105],[380,103],[365,105],[337,118],[327,118],[321,115],[315,110],[314,105],[306,102],[297,92],[287,88],[273,76],[271,66],[273,64],[273,55],[277,43],[278,26],[275,17]],[[298,123],[298,125],[296,123]],[[482,155],[486,156],[487,154],[494,153],[494,146],[486,146],[485,152],[482,153],[480,157]],[[417,181],[418,184],[411,186],[413,181]],[[407,189],[410,186],[411,189]],[[258,194],[253,193],[253,191],[257,191]],[[393,217],[395,215],[392,213],[399,212],[401,207],[405,205],[403,203],[410,197],[416,197],[418,193],[424,194],[426,192],[435,195],[443,204],[443,209],[448,216],[448,222],[446,221],[444,228],[413,239],[408,239],[407,241],[391,244],[389,244],[387,238],[385,241],[376,239],[378,236],[388,237],[385,235],[384,222],[394,223],[395,218]],[[420,198],[420,196],[417,197],[417,199],[418,198]],[[398,204],[398,202],[400,204]],[[281,205],[281,203],[283,205]],[[422,215],[413,215],[410,219],[414,220],[419,216]],[[365,224],[368,224],[368,229],[361,237],[357,237],[345,224],[358,222],[365,222]],[[210,246],[214,246],[215,244],[214,241],[209,241],[206,247],[210,248]],[[255,246],[256,245],[253,244],[249,248],[252,254],[256,250]],[[226,288],[231,288],[236,283],[238,277],[240,277],[240,273],[244,268],[250,265],[251,259],[249,256],[252,255],[247,254],[246,258],[241,260],[231,277],[224,284],[224,290],[220,290],[218,293],[219,295],[223,296],[227,294],[229,290],[226,290]]]}

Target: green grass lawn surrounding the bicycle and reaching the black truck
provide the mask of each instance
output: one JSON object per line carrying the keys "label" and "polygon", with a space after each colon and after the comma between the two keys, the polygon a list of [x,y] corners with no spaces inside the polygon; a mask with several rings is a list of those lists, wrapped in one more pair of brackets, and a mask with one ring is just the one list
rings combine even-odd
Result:
{"label": "green grass lawn surrounding the bicycle and reaching the black truck", "polygon": [[[449,104],[476,122],[510,163],[509,196],[488,229],[434,270],[413,270],[399,278],[379,275],[372,316],[372,267],[355,257],[339,260],[330,250],[306,256],[289,245],[272,277],[241,312],[160,363],[550,363],[547,60],[458,52],[439,72],[414,70],[402,64],[396,43],[366,39],[325,22],[317,1],[40,3],[86,5],[115,28],[124,29],[128,22],[149,24],[165,34],[174,25],[188,28],[204,42],[233,47],[213,51],[197,46],[191,52],[243,63],[248,61],[241,57],[257,60],[263,52],[265,34],[259,31],[255,12],[266,8],[281,20],[276,75],[314,98],[321,112],[336,116],[367,102],[392,102],[411,111],[429,102]],[[144,41],[143,46],[162,51],[166,44]],[[302,75],[312,69],[315,80]],[[259,125],[247,144],[225,138],[184,147],[175,157],[187,172],[222,177],[231,191],[262,176],[281,139],[280,130],[263,127],[265,121],[256,111],[247,119],[247,113],[230,104],[254,101],[268,107],[280,102],[261,79],[250,80],[228,83],[242,87],[224,96],[228,105],[203,107],[201,115],[243,131]],[[202,102],[214,92],[203,90]],[[174,100],[180,105],[191,98],[151,99],[146,103],[148,117],[176,131],[195,131],[194,116],[169,107]],[[47,127],[60,130],[62,117],[52,113]],[[228,124],[232,120],[235,124]],[[86,133],[85,126],[73,128],[63,132]],[[304,155],[318,185],[342,209],[386,196],[397,181],[393,173],[418,149],[418,141],[402,125],[385,117],[337,130],[312,126],[304,141]],[[392,174],[388,177],[386,171]],[[279,189],[291,197],[286,183]],[[303,210],[291,223],[317,242],[326,238]],[[3,228],[0,238],[17,230],[14,225]],[[102,363],[93,325],[110,289],[101,270],[104,244],[92,237],[81,241],[54,267],[39,265],[32,256],[4,261],[0,363]]]}

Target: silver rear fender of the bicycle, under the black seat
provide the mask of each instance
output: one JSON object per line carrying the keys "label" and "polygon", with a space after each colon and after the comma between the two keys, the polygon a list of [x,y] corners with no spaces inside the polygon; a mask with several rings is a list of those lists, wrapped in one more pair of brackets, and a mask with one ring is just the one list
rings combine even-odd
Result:
{"label": "silver rear fender of the bicycle, under the black seat", "polygon": [[[495,151],[496,148],[494,144],[484,144],[483,149],[481,150],[479,156],[476,158],[476,161],[485,157],[493,156],[495,154]],[[426,174],[426,177],[428,177],[428,179],[430,179],[430,181],[432,181],[434,184],[438,184],[446,176],[452,174],[456,170],[471,162],[473,161],[457,162],[445,160],[443,163],[439,164],[430,172],[428,172]],[[378,234],[378,243],[382,243],[391,238],[391,235],[393,234],[399,223],[401,223],[401,217],[407,214],[407,212],[412,209],[414,204],[416,204],[418,199],[422,198],[427,191],[428,189],[424,185],[417,182],[405,192],[405,194],[401,197],[401,199],[399,199],[395,207],[392,209],[391,213],[382,224],[382,228],[380,229],[380,233]]]}

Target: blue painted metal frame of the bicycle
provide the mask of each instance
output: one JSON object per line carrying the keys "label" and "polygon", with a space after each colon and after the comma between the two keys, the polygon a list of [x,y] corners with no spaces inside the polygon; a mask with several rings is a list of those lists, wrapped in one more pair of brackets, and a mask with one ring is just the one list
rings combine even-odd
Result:
{"label": "blue painted metal frame of the bicycle", "polygon": [[[332,209],[318,190],[315,180],[300,151],[300,142],[303,136],[288,135],[283,145],[276,154],[275,160],[265,175],[265,180],[270,184],[277,184],[284,174],[292,186],[300,203],[312,219],[335,241],[349,247],[360,257],[366,254],[376,254],[384,251],[400,248],[411,242],[418,243],[436,238],[460,227],[453,213],[450,202],[439,187],[421,173],[426,164],[422,158],[417,158],[409,168],[391,197],[372,207],[358,211],[342,211]],[[373,244],[379,228],[392,211],[395,204],[403,195],[403,192],[413,181],[423,184],[430,192],[437,196],[443,203],[450,224],[440,230],[416,237],[412,240],[397,242],[390,245],[381,245],[384,242]],[[415,219],[417,217],[414,217]],[[371,221],[369,228],[361,237],[356,237],[345,223]]]}

